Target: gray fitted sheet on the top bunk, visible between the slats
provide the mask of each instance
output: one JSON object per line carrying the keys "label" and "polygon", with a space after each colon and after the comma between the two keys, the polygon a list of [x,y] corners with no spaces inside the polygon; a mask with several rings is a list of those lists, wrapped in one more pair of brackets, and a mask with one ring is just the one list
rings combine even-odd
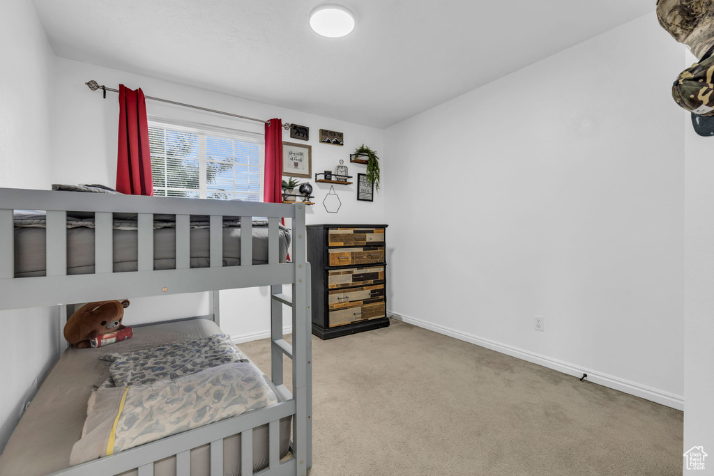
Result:
{"label": "gray fitted sheet on the top bunk, visible between the slats", "polygon": [[[268,227],[253,222],[253,264],[268,263]],[[46,270],[46,229],[15,227],[15,277],[44,276]],[[191,228],[191,268],[208,268],[210,246],[208,228]],[[279,232],[279,256],[284,263],[290,233]],[[114,229],[114,272],[136,271],[137,233]],[[241,228],[223,228],[223,265],[241,264]],[[176,229],[154,230],[154,269],[176,268]],[[94,228],[78,226],[67,229],[67,274],[94,273]]]}

